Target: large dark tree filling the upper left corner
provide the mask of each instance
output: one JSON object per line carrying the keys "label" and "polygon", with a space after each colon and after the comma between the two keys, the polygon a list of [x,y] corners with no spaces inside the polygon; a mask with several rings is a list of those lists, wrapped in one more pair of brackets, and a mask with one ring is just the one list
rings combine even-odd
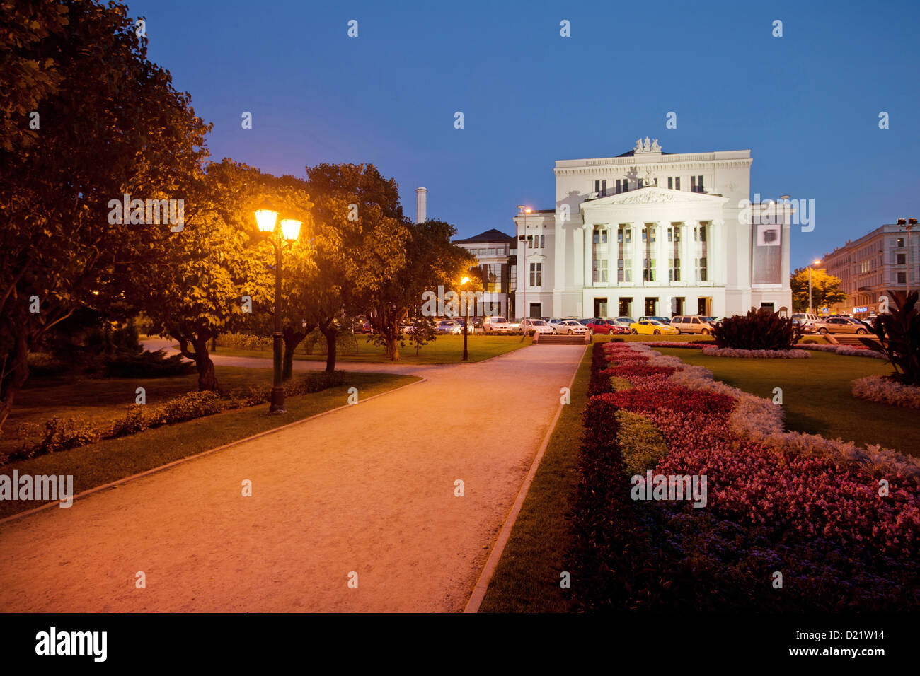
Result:
{"label": "large dark tree filling the upper left corner", "polygon": [[0,107],[5,132],[13,127],[0,143],[0,426],[29,378],[29,350],[75,310],[106,311],[122,298],[141,252],[166,254],[166,223],[110,223],[109,201],[184,198],[210,129],[147,61],[126,6],[9,6],[0,27]]}

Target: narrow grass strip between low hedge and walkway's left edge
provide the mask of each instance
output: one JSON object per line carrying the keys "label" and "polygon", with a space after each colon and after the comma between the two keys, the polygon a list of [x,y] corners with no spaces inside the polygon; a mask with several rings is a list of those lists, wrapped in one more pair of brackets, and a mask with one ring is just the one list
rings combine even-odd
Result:
{"label": "narrow grass strip between low hedge and walkway's left edge", "polygon": [[[265,373],[270,373],[260,373],[260,369],[231,370],[218,367],[217,376],[229,379],[231,371],[256,372],[262,380]],[[29,475],[74,475],[74,492],[79,493],[342,406],[347,403],[350,387],[357,387],[359,397],[364,399],[420,380],[408,375],[357,372],[349,372],[346,378],[346,384],[339,387],[331,387],[312,395],[289,396],[285,402],[287,413],[283,415],[270,415],[268,404],[240,408],[206,418],[145,430],[121,439],[99,441],[61,453],[50,453],[6,464],[0,471],[6,475],[13,469],[18,469],[20,474]],[[96,394],[102,392],[103,389],[97,386]],[[2,500],[0,518],[17,511],[31,510],[40,504],[37,500]]]}

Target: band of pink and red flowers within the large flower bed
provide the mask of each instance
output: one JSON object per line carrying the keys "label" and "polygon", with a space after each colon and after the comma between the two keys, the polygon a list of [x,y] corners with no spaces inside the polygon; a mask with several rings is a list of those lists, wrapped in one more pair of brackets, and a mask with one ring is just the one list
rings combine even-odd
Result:
{"label": "band of pink and red flowers within the large flower bed", "polygon": [[[655,468],[657,473],[707,475],[708,509],[719,518],[765,526],[782,537],[797,533],[801,538],[858,544],[892,556],[916,556],[920,544],[916,464],[897,454],[886,457],[878,448],[851,457],[814,435],[798,435],[798,445],[777,444],[776,432],[769,426],[747,434],[732,421],[740,403],[731,395],[733,388],[715,392],[676,384],[675,373],[680,372],[656,367],[652,361],[657,359],[651,357],[657,353],[631,344],[615,345],[605,349],[614,358],[605,372],[628,380],[649,376],[650,370],[658,368],[654,375],[659,380],[637,381],[633,389],[599,396],[647,416],[661,430],[669,453]],[[641,354],[645,351],[649,356]],[[636,353],[649,362],[644,369]],[[881,456],[881,462],[872,462],[872,454]],[[880,476],[889,482],[887,497],[879,495]]]}

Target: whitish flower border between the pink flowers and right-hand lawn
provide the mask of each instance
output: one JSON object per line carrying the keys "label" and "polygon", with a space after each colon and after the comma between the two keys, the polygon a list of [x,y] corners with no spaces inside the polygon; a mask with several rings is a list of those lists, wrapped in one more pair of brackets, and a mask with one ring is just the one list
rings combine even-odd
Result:
{"label": "whitish flower border between the pink flowers and right-hand lawn", "polygon": [[[652,366],[676,366],[674,361],[680,361],[676,357],[665,357],[661,352],[656,352],[641,343],[630,343],[629,347],[650,352],[649,363]],[[818,434],[784,431],[781,406],[776,406],[769,399],[714,380],[712,372],[702,366],[680,362],[679,369],[671,376],[674,384],[690,390],[705,389],[733,397],[735,407],[729,417],[731,429],[753,441],[764,443],[776,451],[792,448],[805,455],[833,457],[847,463],[874,467],[883,473],[901,470],[920,481],[920,458],[882,448],[880,444],[867,444],[863,449],[842,439],[824,439]]]}

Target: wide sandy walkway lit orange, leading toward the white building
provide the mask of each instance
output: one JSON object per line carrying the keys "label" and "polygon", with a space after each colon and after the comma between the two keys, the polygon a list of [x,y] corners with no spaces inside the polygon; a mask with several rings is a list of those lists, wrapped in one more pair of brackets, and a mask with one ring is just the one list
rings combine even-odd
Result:
{"label": "wide sandy walkway lit orange, leading toward the white building", "polygon": [[425,383],[0,524],[0,610],[462,610],[583,350],[425,367]]}

